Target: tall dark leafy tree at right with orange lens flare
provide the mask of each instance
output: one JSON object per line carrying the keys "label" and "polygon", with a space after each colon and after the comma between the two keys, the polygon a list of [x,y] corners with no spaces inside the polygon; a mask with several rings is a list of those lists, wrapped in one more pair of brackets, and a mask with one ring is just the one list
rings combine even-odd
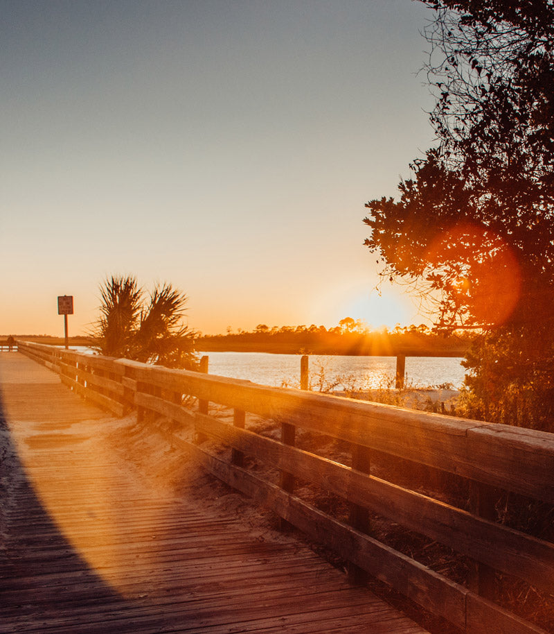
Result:
{"label": "tall dark leafy tree at right with orange lens flare", "polygon": [[436,298],[436,327],[481,329],[466,366],[483,415],[554,431],[554,6],[421,1],[438,144],[399,200],[367,203],[366,245]]}

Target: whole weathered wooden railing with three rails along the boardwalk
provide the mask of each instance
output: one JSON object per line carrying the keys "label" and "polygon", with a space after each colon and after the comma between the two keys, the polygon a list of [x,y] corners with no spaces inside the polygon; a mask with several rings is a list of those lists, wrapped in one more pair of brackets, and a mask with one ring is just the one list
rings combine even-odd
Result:
{"label": "whole weathered wooden railing with three rails along the boardwalk", "polygon": [[[350,562],[352,576],[367,572],[463,632],[544,632],[501,607],[495,593],[517,578],[515,583],[528,584],[548,601],[554,590],[554,545],[522,529],[528,520],[519,527],[503,524],[499,511],[514,499],[535,513],[537,504],[545,506],[540,513],[554,506],[554,434],[46,345],[20,342],[19,350],[117,415],[136,408],[147,422],[157,416],[194,427],[196,444],[175,436],[172,442]],[[184,404],[185,397],[194,397],[195,406]],[[232,410],[227,420],[221,418],[221,406]],[[253,415],[278,422],[281,440],[256,433]],[[296,446],[301,434],[311,434],[312,441],[324,435],[349,447],[350,465]],[[198,444],[202,438],[232,449],[228,459]],[[264,477],[264,465],[278,470],[280,478],[272,481],[271,471]],[[346,500],[350,518],[333,517],[295,495],[297,481]],[[469,502],[456,504],[454,498]],[[459,583],[431,569],[431,563],[386,545],[372,529],[378,518],[427,538],[430,549],[437,544],[452,549],[471,574]]]}

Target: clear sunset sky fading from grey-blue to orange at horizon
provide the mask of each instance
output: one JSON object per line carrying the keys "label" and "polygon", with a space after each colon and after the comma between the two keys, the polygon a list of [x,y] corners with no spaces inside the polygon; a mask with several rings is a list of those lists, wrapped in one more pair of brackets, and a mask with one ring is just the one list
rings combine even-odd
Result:
{"label": "clear sunset sky fading from grey-blue to orange at horizon", "polygon": [[375,290],[364,204],[431,146],[411,0],[0,0],[0,333],[99,286],[188,295],[204,334],[421,323]]}

